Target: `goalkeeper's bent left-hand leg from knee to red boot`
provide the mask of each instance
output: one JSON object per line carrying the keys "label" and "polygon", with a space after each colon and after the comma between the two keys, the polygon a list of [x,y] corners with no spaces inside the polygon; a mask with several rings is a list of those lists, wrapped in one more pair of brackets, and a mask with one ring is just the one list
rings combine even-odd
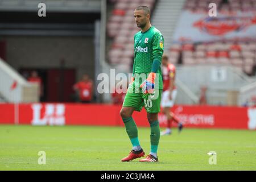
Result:
{"label": "goalkeeper's bent left-hand leg from knee to red boot", "polygon": [[125,123],[126,132],[131,140],[131,144],[133,145],[133,150],[130,152],[130,154],[126,158],[122,159],[122,162],[128,162],[136,158],[141,158],[145,154],[141,148],[141,144],[139,144],[138,129],[137,129],[136,123],[131,117],[134,110],[135,110],[134,107],[122,107],[120,111],[120,115],[123,119],[123,123]]}

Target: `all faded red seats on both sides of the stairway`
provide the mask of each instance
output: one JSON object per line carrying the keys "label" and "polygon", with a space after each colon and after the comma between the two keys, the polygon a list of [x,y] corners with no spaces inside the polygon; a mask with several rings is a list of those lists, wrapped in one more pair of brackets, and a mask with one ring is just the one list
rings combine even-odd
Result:
{"label": "all faded red seats on both sides of the stairway", "polygon": [[[147,5],[152,10],[155,0],[112,0],[114,9],[108,19],[107,32],[113,39],[108,60],[110,64],[133,61],[133,36],[138,32],[135,26],[133,13],[139,5]],[[208,13],[209,3],[216,3],[217,9],[232,14],[233,11],[256,10],[256,0],[187,0],[185,10],[194,13]],[[221,40],[210,43],[172,44],[167,55],[174,64],[230,64],[251,75],[256,67],[256,40]]]}

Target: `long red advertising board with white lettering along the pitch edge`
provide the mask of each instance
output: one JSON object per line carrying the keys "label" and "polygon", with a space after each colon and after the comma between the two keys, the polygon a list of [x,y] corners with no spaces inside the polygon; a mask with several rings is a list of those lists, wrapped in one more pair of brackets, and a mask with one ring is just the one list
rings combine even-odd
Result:
{"label": "long red advertising board with white lettering along the pitch edge", "polygon": [[[26,125],[124,126],[119,116],[121,105],[104,104],[0,104],[0,123]],[[175,106],[176,117],[185,127],[256,129],[256,107]],[[147,127],[147,114],[135,111],[137,126]],[[166,117],[159,113],[160,126]]]}

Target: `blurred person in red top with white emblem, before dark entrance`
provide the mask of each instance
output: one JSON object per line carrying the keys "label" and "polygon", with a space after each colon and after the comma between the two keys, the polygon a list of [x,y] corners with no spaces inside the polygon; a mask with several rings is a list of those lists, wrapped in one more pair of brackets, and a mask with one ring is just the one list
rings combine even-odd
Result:
{"label": "blurred person in red top with white emblem, before dark entrance", "polygon": [[88,75],[82,76],[82,80],[77,82],[73,89],[76,90],[79,95],[79,101],[82,103],[90,103],[92,102],[92,94],[93,94],[93,82],[90,80]]}

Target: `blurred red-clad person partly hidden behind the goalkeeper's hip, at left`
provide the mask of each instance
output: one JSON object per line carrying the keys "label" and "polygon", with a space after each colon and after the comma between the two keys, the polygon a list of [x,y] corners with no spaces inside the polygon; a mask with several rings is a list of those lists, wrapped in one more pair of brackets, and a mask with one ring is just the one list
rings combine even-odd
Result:
{"label": "blurred red-clad person partly hidden behind the goalkeeper's hip, at left", "polygon": [[123,89],[123,84],[121,81],[115,85],[115,88],[113,89],[114,93],[111,94],[113,104],[117,104],[117,105],[123,104],[123,100],[125,99],[125,94],[127,92],[127,87],[128,87],[128,83],[126,85],[126,89]]}

